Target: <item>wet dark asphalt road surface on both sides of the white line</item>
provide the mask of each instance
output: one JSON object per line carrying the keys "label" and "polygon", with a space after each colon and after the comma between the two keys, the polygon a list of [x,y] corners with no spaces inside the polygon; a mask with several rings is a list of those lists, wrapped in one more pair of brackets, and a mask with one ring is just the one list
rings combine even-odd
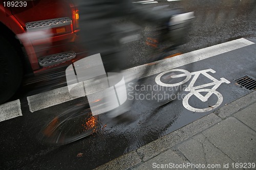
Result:
{"label": "wet dark asphalt road surface on both sides of the white line", "polygon": [[[190,52],[203,47],[219,44],[240,37],[254,39],[256,37],[256,1],[180,1],[159,3],[148,6],[172,4],[173,7],[184,7],[186,11],[195,11],[196,20],[189,33],[189,42],[182,46],[181,51]],[[146,46],[143,45],[147,28],[142,39],[128,45],[132,48],[129,59],[130,67],[147,63],[143,57]],[[138,45],[139,43],[139,45]],[[139,49],[138,49],[139,46]],[[255,46],[235,50],[218,60],[205,59],[194,64],[179,68],[190,72],[214,69],[211,74],[218,80],[226,78],[230,84],[223,83],[218,91],[223,95],[222,105],[240,98],[249,90],[235,85],[235,80],[244,76],[255,75],[255,59],[240,58],[244,54],[255,55]],[[232,61],[232,62],[230,62]],[[214,63],[214,64],[213,64]],[[142,79],[139,83],[154,85],[156,75]],[[189,82],[188,82],[189,83]],[[206,83],[200,79],[200,83]],[[228,89],[228,90],[227,90]],[[151,91],[140,89],[140,93]],[[163,93],[160,91],[160,93]],[[29,93],[29,92],[28,92]],[[186,93],[181,91],[181,93]],[[199,102],[193,99],[195,104]],[[212,96],[212,103],[216,102]],[[40,128],[47,120],[73,107],[77,103],[86,102],[79,98],[34,113],[27,105],[22,105],[23,116],[0,123],[1,132],[1,169],[92,169],[127,152],[136,150],[142,145],[168,134],[187,123],[196,120],[209,112],[193,113],[184,109],[181,101],[173,101],[158,108],[155,100],[136,100],[127,116],[128,122],[113,121],[102,114],[98,117],[99,130],[91,136],[61,147],[48,146],[38,138]],[[25,99],[22,102],[26,103]],[[198,104],[201,106],[201,104]],[[209,104],[211,105],[211,104]],[[106,126],[105,126],[106,125]],[[79,157],[78,153],[82,153]]]}

